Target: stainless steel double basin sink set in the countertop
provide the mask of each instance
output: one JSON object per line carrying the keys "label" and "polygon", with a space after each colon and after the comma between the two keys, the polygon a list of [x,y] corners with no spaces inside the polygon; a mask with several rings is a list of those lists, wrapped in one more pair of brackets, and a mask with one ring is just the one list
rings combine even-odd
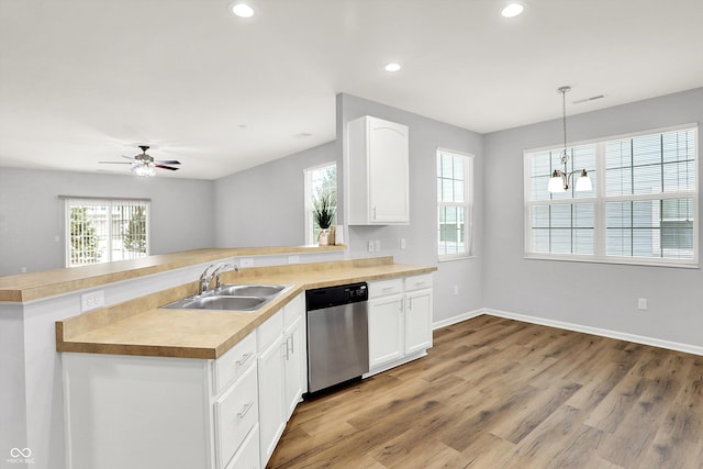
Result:
{"label": "stainless steel double basin sink set in the countertop", "polygon": [[223,284],[202,294],[166,304],[170,310],[212,310],[255,312],[288,291],[290,284]]}

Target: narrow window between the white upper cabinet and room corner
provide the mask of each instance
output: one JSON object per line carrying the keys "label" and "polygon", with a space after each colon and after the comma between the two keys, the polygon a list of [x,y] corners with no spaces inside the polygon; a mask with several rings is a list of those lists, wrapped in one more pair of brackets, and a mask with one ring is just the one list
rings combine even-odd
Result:
{"label": "narrow window between the white upper cabinet and room corner", "polygon": [[473,157],[437,150],[437,247],[439,259],[472,255]]}

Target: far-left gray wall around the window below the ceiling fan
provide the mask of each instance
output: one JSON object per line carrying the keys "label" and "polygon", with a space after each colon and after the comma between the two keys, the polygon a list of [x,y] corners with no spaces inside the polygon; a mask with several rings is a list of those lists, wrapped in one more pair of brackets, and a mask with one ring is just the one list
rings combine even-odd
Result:
{"label": "far-left gray wall around the window below the ceiling fan", "polygon": [[0,167],[0,276],[64,267],[58,196],[152,199],[152,254],[214,245],[211,181]]}

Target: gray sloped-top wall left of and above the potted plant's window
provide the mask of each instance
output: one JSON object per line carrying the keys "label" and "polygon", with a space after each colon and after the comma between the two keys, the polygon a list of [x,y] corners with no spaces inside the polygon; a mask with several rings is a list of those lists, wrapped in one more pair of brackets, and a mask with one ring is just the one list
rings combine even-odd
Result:
{"label": "gray sloped-top wall left of and above the potted plant's window", "polygon": [[335,160],[330,142],[217,179],[216,247],[305,244],[303,171]]}

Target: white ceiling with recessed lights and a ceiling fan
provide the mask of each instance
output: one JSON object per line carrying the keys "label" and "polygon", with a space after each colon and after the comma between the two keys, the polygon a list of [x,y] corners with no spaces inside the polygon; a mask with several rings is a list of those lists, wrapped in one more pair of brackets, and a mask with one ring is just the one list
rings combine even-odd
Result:
{"label": "white ceiling with recessed lights and a ceiling fan", "polygon": [[702,0],[231,3],[0,0],[0,166],[216,179],[334,139],[338,92],[487,133],[703,86]]}

